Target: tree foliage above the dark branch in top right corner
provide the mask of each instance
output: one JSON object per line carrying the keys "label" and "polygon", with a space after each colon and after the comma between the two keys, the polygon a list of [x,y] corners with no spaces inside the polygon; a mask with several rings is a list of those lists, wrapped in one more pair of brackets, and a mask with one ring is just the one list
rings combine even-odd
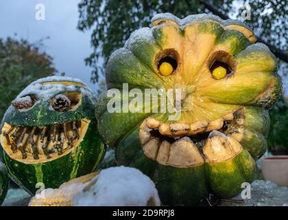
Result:
{"label": "tree foliage above the dark branch in top right corner", "polygon": [[244,21],[241,14],[246,17],[244,10],[250,10],[250,19],[245,22],[250,24],[254,33],[261,36],[265,43],[269,43],[278,50],[287,52],[287,1],[283,0],[246,0],[245,4],[235,9],[235,0],[217,1],[215,8],[224,14],[233,14],[233,18]]}

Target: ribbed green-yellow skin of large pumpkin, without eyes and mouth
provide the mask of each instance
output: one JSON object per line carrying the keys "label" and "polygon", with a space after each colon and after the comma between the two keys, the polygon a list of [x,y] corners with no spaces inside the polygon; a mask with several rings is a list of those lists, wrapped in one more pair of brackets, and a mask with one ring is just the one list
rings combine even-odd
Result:
{"label": "ribbed green-yellow skin of large pumpkin, without eyes and mouth", "polygon": [[[230,198],[241,192],[243,182],[252,182],[256,175],[256,159],[267,150],[269,131],[268,110],[282,91],[276,74],[275,56],[268,47],[255,43],[256,37],[243,23],[223,21],[219,17],[196,14],[178,19],[171,14],[158,14],[152,19],[153,28],[142,28],[130,36],[125,46],[111,54],[106,67],[108,89],[170,89],[175,85],[195,87],[190,98],[201,109],[183,108],[177,122],[212,122],[233,109],[243,109],[243,136],[237,137],[242,146],[232,159],[207,162],[203,166],[182,168],[159,164],[147,157],[139,138],[141,124],[152,116],[167,123],[169,113],[110,113],[106,94],[96,109],[99,134],[108,146],[115,147],[117,164],[139,168],[151,177],[164,204],[191,205],[207,197]],[[165,50],[178,54],[179,70],[170,76],[159,74],[156,61]],[[231,77],[215,80],[208,61],[216,52],[232,59]],[[217,55],[215,55],[217,56]],[[256,80],[255,80],[256,79]],[[121,91],[121,101],[131,97]],[[185,104],[185,102],[184,102]],[[236,137],[235,137],[236,138]],[[232,170],[228,173],[227,170]]]}

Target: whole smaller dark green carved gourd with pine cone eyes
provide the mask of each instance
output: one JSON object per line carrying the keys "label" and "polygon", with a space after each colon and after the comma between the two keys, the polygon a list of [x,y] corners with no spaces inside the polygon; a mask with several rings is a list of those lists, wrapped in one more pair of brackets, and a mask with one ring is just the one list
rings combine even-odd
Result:
{"label": "whole smaller dark green carved gourd with pine cone eyes", "polygon": [[1,123],[0,155],[12,179],[34,194],[93,172],[105,151],[94,112],[81,80],[51,76],[21,91]]}

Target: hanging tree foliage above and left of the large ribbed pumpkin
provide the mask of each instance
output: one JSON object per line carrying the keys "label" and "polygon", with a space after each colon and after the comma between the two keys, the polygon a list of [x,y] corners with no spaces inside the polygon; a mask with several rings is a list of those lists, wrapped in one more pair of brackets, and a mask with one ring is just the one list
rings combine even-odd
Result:
{"label": "hanging tree foliage above and left of the large ribbed pumpkin", "polygon": [[204,5],[195,0],[82,0],[78,7],[78,28],[82,31],[93,29],[91,43],[94,51],[85,62],[94,67],[94,83],[98,81],[99,74],[103,73],[110,53],[123,46],[134,30],[149,25],[154,14],[171,12],[178,17],[186,17],[204,12]]}

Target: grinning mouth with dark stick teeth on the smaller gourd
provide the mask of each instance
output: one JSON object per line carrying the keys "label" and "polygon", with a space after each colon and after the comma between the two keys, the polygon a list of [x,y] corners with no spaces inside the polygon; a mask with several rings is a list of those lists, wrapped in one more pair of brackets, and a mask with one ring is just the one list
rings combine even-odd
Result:
{"label": "grinning mouth with dark stick teeth on the smaller gourd", "polygon": [[89,122],[82,119],[47,126],[12,126],[5,122],[1,145],[19,162],[49,162],[73,151],[82,141]]}

